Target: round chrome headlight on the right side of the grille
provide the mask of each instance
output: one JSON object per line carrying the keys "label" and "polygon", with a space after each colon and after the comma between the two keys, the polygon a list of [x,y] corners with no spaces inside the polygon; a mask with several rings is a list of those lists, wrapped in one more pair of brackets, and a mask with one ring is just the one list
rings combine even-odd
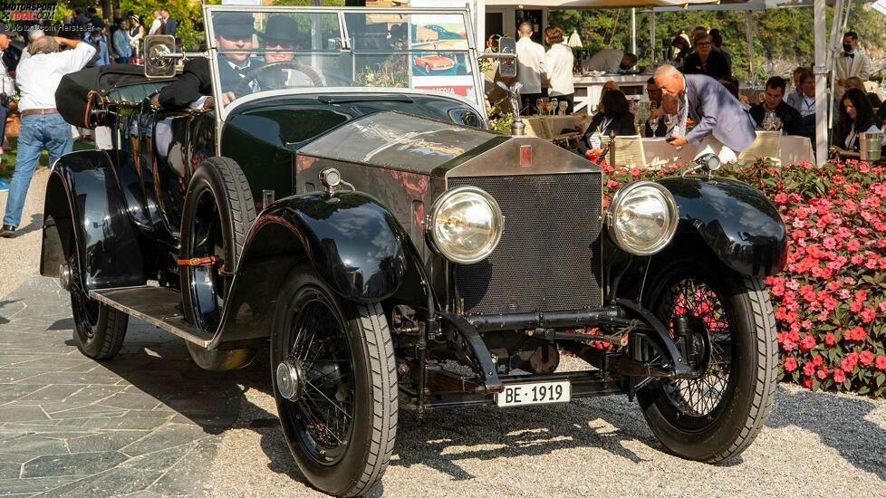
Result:
{"label": "round chrome headlight on the right side of the grille", "polygon": [[621,249],[641,256],[655,254],[677,230],[677,202],[657,183],[633,182],[615,193],[607,220],[609,234]]}

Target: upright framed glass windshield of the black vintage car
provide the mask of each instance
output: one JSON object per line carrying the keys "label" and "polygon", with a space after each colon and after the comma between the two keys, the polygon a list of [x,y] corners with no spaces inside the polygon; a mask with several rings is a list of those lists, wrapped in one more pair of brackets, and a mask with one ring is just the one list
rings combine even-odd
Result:
{"label": "upright framed glass windshield of the black vintage car", "polygon": [[442,91],[479,105],[466,15],[415,10],[207,7],[221,101],[377,87]]}

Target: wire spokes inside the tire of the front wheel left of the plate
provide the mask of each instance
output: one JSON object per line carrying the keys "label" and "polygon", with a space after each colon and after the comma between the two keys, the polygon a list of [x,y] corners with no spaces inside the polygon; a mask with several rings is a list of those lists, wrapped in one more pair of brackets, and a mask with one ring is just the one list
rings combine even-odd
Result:
{"label": "wire spokes inside the tire of the front wheel left of the plate", "polygon": [[334,464],[351,440],[355,385],[344,324],[323,294],[304,289],[288,359],[300,369],[302,393],[287,410],[302,444],[318,463]]}

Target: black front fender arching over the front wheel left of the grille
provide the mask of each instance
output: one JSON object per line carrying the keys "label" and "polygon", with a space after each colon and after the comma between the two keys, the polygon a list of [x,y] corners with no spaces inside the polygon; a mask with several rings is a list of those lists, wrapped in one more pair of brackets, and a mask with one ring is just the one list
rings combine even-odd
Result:
{"label": "black front fender arching over the front wheel left of the grille", "polygon": [[344,299],[369,303],[390,298],[408,281],[420,282],[415,254],[394,215],[367,194],[314,192],[280,199],[249,231],[225,317],[209,348],[267,336],[277,292],[296,263],[309,261]]}

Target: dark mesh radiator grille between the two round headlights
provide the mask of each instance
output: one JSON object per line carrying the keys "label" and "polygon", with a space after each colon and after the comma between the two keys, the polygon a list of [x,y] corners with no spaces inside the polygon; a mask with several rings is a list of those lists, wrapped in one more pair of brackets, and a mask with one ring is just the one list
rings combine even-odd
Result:
{"label": "dark mesh radiator grille between the two round headlights", "polygon": [[466,313],[577,310],[602,304],[600,173],[449,178],[496,198],[502,240],[486,260],[457,265]]}

